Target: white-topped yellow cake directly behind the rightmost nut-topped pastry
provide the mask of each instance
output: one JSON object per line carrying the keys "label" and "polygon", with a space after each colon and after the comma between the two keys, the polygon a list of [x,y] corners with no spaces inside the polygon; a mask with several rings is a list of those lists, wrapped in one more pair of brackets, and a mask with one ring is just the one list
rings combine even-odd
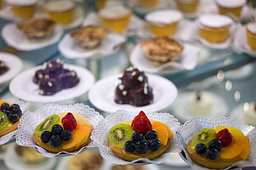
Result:
{"label": "white-topped yellow cake directly behind the rightmost nut-topped pastry", "polygon": [[156,10],[145,15],[149,28],[156,36],[172,36],[176,34],[179,21],[183,19],[177,10]]}

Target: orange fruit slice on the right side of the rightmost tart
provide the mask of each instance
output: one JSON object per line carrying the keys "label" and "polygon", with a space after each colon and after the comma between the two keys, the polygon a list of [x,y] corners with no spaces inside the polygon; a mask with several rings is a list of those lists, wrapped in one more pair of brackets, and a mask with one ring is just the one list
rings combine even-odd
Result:
{"label": "orange fruit slice on the right side of the rightmost tart", "polygon": [[243,152],[239,157],[246,160],[250,154],[250,141],[248,136],[233,137],[233,143],[244,147]]}

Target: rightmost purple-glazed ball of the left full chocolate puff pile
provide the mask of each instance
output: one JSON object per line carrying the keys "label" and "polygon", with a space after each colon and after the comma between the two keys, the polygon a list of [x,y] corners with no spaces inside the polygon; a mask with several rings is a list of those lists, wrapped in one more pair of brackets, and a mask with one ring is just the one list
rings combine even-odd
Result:
{"label": "rightmost purple-glazed ball of the left full chocolate puff pile", "polygon": [[74,87],[79,83],[79,78],[77,77],[77,74],[74,71],[64,69],[62,74],[60,74],[60,77],[63,81],[63,89],[68,89],[71,87]]}

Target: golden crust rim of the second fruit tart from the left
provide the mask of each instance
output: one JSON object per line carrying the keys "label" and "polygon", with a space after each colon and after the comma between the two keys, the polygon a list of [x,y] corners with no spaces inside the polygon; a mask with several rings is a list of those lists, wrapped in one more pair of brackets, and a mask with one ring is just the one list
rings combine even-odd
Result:
{"label": "golden crust rim of the second fruit tart from the left", "polygon": [[71,151],[76,151],[77,149],[80,149],[80,148],[86,146],[91,141],[90,136],[91,136],[91,133],[89,134],[88,140],[86,142],[84,142],[82,145],[71,147],[69,149],[63,149],[62,145],[60,147],[52,147],[51,145],[48,145],[47,143],[42,142],[40,137],[35,135],[35,134],[33,136],[33,139],[35,140],[35,142],[37,143],[37,145],[39,147],[42,147],[42,148],[46,149],[47,151],[50,151],[50,152],[68,151],[68,152],[71,152]]}

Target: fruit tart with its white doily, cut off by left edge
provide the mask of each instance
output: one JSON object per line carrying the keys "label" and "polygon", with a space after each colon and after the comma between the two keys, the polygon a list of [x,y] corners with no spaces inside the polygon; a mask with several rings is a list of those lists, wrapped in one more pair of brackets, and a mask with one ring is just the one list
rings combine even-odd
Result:
{"label": "fruit tart with its white doily, cut off by left edge", "polygon": [[[10,133],[18,129],[19,121],[26,111],[28,111],[28,104],[24,101],[15,98],[0,100],[0,137],[6,137],[1,139],[0,144],[8,142],[6,140],[15,135]],[[6,136],[7,134],[10,136]]]}

